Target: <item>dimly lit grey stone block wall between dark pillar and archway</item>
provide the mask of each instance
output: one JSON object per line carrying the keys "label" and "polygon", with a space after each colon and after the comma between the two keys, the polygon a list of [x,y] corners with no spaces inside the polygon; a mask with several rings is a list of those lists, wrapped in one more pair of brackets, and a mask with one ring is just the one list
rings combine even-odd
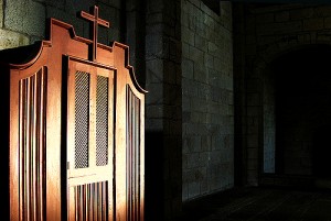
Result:
{"label": "dimly lit grey stone block wall between dark pillar and archway", "polygon": [[190,200],[234,186],[232,5],[181,3],[183,189]]}

